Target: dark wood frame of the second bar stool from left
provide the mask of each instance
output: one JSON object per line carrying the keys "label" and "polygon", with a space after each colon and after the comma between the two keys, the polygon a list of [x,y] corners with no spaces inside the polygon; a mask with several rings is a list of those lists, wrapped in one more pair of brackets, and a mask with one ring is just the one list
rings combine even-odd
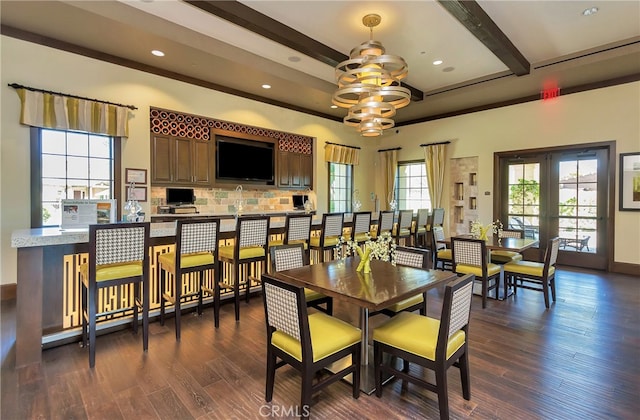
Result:
{"label": "dark wood frame of the second bar stool from left", "polygon": [[[182,260],[182,249],[184,245],[183,238],[183,227],[185,225],[195,225],[202,223],[215,223],[215,239],[213,241],[213,249],[210,249],[213,256],[212,264],[198,265],[195,267],[181,267]],[[160,294],[160,325],[164,325],[164,317],[165,317],[165,301],[170,302],[174,305],[174,318],[175,318],[175,328],[176,328],[176,340],[180,340],[180,318],[182,315],[181,304],[183,300],[191,299],[193,296],[198,297],[198,306],[197,313],[198,315],[202,315],[202,299],[203,293],[207,293],[211,296],[215,295],[215,284],[219,281],[220,276],[220,264],[218,261],[218,243],[220,241],[220,219],[219,218],[198,218],[193,220],[177,220],[176,221],[176,248],[175,248],[175,273],[173,276],[173,287],[174,287],[174,295],[171,296],[165,293],[165,284],[166,284],[166,270],[162,269],[162,265],[158,263],[158,276],[160,277],[159,281],[159,289],[158,293]],[[206,271],[213,270],[213,281],[211,285],[213,288],[205,287],[204,283],[204,273]],[[198,273],[198,291],[191,294],[182,294],[182,282],[183,275],[189,273]],[[215,327],[220,326],[220,320],[218,314],[214,311],[214,325]]]}

